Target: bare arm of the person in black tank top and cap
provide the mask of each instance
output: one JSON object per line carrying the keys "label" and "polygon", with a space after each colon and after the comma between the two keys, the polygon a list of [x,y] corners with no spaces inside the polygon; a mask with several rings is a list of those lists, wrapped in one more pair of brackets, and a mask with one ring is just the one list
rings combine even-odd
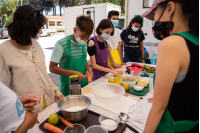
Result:
{"label": "bare arm of the person in black tank top and cap", "polygon": [[[188,62],[189,67],[189,58],[187,59],[189,53],[183,50],[184,40],[180,44],[177,41],[175,44],[173,40],[177,39],[174,39],[174,37],[166,38],[158,46],[153,106],[149,113],[144,133],[155,132],[168,106],[172,87],[179,70],[181,70],[183,63]],[[188,56],[186,56],[187,54]]]}

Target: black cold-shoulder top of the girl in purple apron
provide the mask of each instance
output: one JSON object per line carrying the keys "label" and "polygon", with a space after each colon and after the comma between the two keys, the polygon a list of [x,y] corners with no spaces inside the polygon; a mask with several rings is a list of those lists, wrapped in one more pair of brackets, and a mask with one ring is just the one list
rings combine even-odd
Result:
{"label": "black cold-shoulder top of the girl in purple apron", "polygon": [[[93,41],[94,41],[93,38],[90,39],[90,40],[93,40]],[[96,46],[93,45],[92,47],[89,47],[89,41],[90,41],[90,40],[87,41],[87,51],[88,51],[89,56],[93,56],[93,55],[96,54]],[[98,40],[97,40],[97,41],[98,41]],[[105,42],[106,42],[106,41],[105,41]],[[94,41],[94,43],[95,43],[95,41]],[[101,50],[105,49],[104,42],[99,42],[99,41],[98,41],[98,45],[99,45],[99,49],[101,49]],[[107,42],[106,42],[106,46],[107,46],[107,48],[108,48]]]}

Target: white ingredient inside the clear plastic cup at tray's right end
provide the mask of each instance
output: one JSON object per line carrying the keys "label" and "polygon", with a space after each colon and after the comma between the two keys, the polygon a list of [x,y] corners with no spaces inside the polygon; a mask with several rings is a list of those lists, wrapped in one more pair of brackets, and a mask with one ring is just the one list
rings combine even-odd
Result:
{"label": "white ingredient inside the clear plastic cup at tray's right end", "polygon": [[[101,122],[101,126],[107,131],[113,131],[117,127],[117,122],[112,119],[105,119]],[[110,126],[110,127],[109,127]]]}

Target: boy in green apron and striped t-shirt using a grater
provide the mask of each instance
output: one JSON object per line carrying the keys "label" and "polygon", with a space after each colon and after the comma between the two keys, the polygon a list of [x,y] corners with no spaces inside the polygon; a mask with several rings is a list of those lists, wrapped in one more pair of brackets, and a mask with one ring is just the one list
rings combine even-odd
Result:
{"label": "boy in green apron and striped t-shirt using a grater", "polygon": [[91,36],[93,29],[94,23],[90,17],[78,16],[73,29],[74,34],[59,40],[54,46],[49,70],[60,75],[59,90],[64,96],[70,94],[70,76],[78,75],[81,87],[88,84],[86,71],[92,74],[92,69],[87,63],[86,41]]}

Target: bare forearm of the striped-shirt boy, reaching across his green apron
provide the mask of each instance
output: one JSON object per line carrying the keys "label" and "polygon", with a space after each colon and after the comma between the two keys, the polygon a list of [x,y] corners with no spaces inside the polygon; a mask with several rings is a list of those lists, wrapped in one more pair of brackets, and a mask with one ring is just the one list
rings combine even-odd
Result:
{"label": "bare forearm of the striped-shirt boy, reaching across his green apron", "polygon": [[55,63],[52,61],[50,61],[50,64],[49,64],[49,71],[52,73],[58,74],[58,75],[64,75],[64,76],[79,75],[80,79],[86,78],[86,76],[83,75],[82,73],[80,73],[78,71],[60,68],[60,67],[58,67],[58,63]]}

